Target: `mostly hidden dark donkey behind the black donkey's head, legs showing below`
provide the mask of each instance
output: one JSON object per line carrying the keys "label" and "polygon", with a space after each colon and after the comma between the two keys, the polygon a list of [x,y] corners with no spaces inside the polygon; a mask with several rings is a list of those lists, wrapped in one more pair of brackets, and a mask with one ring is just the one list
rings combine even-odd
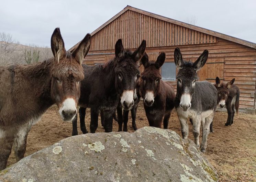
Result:
{"label": "mostly hidden dark donkey behind the black donkey's head, legs showing below", "polygon": [[[140,66],[139,66],[140,67]],[[139,79],[137,81],[137,85],[134,91],[134,96],[133,96],[133,100],[134,100],[134,105],[132,106],[132,108],[130,110],[123,110],[122,105],[119,103],[118,107],[116,108],[116,112],[118,114],[118,131],[122,132],[122,123],[123,125],[123,132],[127,132],[127,123],[128,123],[128,116],[129,116],[129,111],[131,111],[131,115],[132,115],[132,127],[133,130],[137,130],[137,126],[136,126],[136,114],[137,114],[137,108],[138,108],[138,104],[141,100],[141,95],[140,95],[140,86],[141,86],[141,80]]]}

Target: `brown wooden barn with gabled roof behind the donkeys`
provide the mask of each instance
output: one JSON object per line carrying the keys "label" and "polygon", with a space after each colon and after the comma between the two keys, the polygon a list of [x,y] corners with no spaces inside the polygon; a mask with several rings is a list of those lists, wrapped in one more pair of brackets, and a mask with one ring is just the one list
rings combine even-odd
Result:
{"label": "brown wooden barn with gabled roof behind the donkeys", "polygon": [[145,39],[146,52],[151,60],[156,60],[160,52],[166,53],[166,61],[161,68],[162,79],[171,82],[175,89],[177,70],[174,49],[179,47],[183,58],[191,61],[208,49],[207,64],[198,74],[200,81],[215,82],[216,76],[224,81],[235,78],[235,84],[241,91],[240,109],[256,109],[255,43],[131,6],[125,7],[91,35],[91,48],[84,61],[87,65],[103,64],[112,59],[119,38],[122,38],[124,47],[131,50],[135,50]]}

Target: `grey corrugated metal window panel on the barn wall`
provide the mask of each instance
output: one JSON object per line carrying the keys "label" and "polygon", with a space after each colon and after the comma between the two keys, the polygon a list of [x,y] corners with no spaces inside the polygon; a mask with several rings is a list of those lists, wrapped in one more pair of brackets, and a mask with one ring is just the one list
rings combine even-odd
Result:
{"label": "grey corrugated metal window panel on the barn wall", "polygon": [[161,67],[162,80],[175,81],[176,80],[176,65],[174,62],[165,62]]}

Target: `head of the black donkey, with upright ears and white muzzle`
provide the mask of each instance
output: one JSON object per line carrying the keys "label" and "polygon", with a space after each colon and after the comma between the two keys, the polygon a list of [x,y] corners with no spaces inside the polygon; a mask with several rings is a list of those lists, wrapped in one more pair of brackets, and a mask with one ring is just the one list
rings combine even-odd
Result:
{"label": "head of the black donkey, with upright ears and white muzzle", "polygon": [[136,85],[140,78],[140,59],[146,49],[146,41],[133,52],[125,51],[122,40],[119,39],[115,44],[115,88],[121,94],[121,104],[124,110],[130,110],[134,104],[136,96]]}

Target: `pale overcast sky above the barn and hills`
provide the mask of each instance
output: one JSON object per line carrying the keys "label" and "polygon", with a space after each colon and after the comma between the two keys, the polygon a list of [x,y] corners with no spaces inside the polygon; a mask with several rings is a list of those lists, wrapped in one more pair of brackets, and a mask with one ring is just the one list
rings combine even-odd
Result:
{"label": "pale overcast sky above the barn and hills", "polygon": [[68,50],[126,5],[179,21],[195,16],[198,26],[256,43],[255,0],[5,0],[0,32],[21,44],[50,47],[52,32],[60,27]]}

